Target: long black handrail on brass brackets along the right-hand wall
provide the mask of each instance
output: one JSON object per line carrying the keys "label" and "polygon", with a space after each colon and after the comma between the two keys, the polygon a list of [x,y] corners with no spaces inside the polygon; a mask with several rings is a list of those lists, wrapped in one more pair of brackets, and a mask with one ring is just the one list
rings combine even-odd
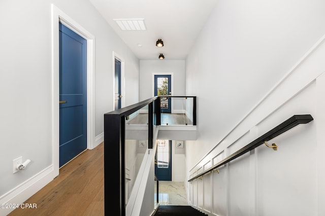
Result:
{"label": "long black handrail on brass brackets along the right-hand wall", "polygon": [[269,132],[263,134],[262,136],[258,137],[257,139],[255,139],[254,141],[250,142],[248,145],[246,145],[245,147],[241,148],[240,150],[238,150],[237,152],[233,153],[232,155],[226,157],[225,159],[221,160],[220,162],[218,162],[217,164],[215,164],[214,166],[212,166],[210,169],[192,177],[191,179],[188,180],[188,182],[192,182],[194,179],[199,178],[211,171],[213,171],[214,169],[238,158],[239,156],[242,156],[243,154],[255,149],[256,147],[262,145],[265,141],[269,141],[270,139],[273,139],[274,137],[284,133],[285,131],[299,125],[299,124],[306,124],[310,121],[313,120],[313,117],[311,115],[294,115],[293,117],[287,119],[286,121],[282,122],[281,124],[279,124],[278,126],[276,126],[275,128],[273,128],[272,130],[270,130]]}

